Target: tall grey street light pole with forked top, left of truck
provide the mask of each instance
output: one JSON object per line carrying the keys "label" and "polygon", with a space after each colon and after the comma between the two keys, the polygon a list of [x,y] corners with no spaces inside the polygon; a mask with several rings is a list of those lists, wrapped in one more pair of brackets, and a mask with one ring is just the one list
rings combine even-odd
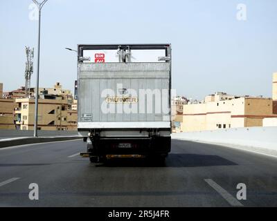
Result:
{"label": "tall grey street light pole with forked top, left of truck", "polygon": [[38,97],[39,97],[39,50],[40,50],[40,17],[42,12],[42,7],[48,0],[39,3],[36,0],[33,2],[37,5],[37,10],[39,11],[39,30],[38,30],[38,40],[37,40],[37,84],[35,90],[35,124],[34,124],[34,137],[37,137],[37,113],[38,113]]}

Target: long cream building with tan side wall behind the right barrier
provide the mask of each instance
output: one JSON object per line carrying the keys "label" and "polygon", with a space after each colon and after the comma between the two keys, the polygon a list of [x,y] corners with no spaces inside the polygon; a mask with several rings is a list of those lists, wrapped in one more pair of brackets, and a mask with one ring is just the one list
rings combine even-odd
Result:
{"label": "long cream building with tan side wall behind the right barrier", "polygon": [[[274,74],[274,82],[277,81]],[[277,86],[273,83],[273,98],[277,97]],[[274,100],[264,97],[236,97],[226,93],[215,93],[205,97],[201,104],[184,105],[181,130],[206,131],[220,128],[263,126],[263,119],[277,117]],[[265,121],[268,123],[268,120]]]}

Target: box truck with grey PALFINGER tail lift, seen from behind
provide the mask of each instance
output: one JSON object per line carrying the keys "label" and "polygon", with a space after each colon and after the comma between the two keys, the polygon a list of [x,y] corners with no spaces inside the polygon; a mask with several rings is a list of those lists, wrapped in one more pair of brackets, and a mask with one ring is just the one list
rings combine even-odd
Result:
{"label": "box truck with grey PALFINGER tail lift, seen from behind", "polygon": [[80,153],[164,161],[171,149],[171,44],[78,45]]}

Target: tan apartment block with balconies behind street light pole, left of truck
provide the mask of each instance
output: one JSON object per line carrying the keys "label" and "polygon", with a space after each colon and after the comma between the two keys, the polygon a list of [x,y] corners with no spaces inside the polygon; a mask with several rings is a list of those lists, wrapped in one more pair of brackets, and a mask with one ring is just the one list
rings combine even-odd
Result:
{"label": "tan apartment block with balconies behind street light pole, left of truck", "polygon": [[[68,100],[60,96],[38,100],[37,129],[44,131],[75,131],[77,130],[77,111],[71,110]],[[21,130],[33,130],[35,122],[35,99],[16,99],[18,104],[15,115],[16,124]]]}

